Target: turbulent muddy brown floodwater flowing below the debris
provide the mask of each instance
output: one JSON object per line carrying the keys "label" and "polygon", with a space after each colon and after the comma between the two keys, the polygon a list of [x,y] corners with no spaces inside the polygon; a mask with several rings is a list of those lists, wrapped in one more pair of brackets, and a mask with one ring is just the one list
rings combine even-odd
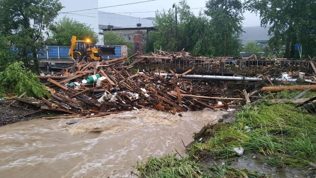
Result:
{"label": "turbulent muddy brown floodwater flowing below the debris", "polygon": [[0,177],[131,177],[131,165],[166,153],[183,153],[204,124],[222,111],[182,113],[154,110],[87,119],[31,120],[0,127]]}

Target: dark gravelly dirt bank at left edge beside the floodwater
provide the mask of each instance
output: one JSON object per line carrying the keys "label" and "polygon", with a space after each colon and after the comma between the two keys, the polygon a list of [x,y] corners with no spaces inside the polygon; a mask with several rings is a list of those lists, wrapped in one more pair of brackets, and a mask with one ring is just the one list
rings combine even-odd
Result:
{"label": "dark gravelly dirt bank at left edge beside the floodwater", "polygon": [[0,105],[0,126],[38,118],[36,115],[23,117],[23,114],[26,114],[28,112],[31,112],[31,111],[23,109],[23,108],[6,107],[3,105]]}

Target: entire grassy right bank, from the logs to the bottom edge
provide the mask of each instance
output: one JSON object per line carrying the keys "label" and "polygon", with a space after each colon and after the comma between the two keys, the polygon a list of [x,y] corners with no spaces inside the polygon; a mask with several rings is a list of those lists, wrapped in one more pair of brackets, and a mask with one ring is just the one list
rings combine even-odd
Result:
{"label": "entire grassy right bank, from the logs to the bottom edge", "polygon": [[[281,92],[270,98],[293,98],[299,92]],[[304,97],[315,96],[308,92]],[[188,157],[174,155],[150,157],[134,166],[140,177],[267,177],[246,169],[227,166],[238,159],[234,148],[245,153],[262,155],[262,161],[276,167],[316,168],[316,115],[295,104],[272,103],[260,100],[244,106],[235,113],[234,123],[206,125],[195,139],[204,141],[186,150]],[[225,166],[201,166],[205,160],[226,159]],[[315,173],[315,172],[314,172]]]}

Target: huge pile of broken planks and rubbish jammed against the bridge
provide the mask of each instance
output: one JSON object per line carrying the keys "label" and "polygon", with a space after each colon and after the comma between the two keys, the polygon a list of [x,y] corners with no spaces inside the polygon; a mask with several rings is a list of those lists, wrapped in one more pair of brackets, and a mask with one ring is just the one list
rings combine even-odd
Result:
{"label": "huge pile of broken planks and rubbish jammed against the bridge", "polygon": [[[263,98],[259,94],[260,90],[262,92],[303,91],[308,88],[311,91],[316,90],[316,85],[275,86],[277,82],[287,84],[297,79],[302,79],[307,84],[315,84],[314,74],[300,71],[279,75],[269,75],[267,72],[254,77],[242,77],[236,74],[233,76],[192,75],[190,74],[193,73],[192,69],[182,74],[177,74],[173,70],[153,73],[143,69],[140,72],[139,69],[131,68],[150,57],[137,58],[132,62],[127,57],[102,62],[75,61],[71,67],[62,71],[51,71],[49,74],[42,73],[37,76],[50,91],[51,98],[22,98],[23,95],[19,97],[10,95],[10,98],[4,98],[5,101],[1,101],[0,104],[7,107],[22,107],[15,105],[15,101],[19,101],[24,103],[26,108],[33,106],[35,110],[23,116],[43,111],[61,111],[68,113],[66,117],[72,117],[71,115],[101,117],[142,108],[177,114],[177,112],[203,108],[234,111],[258,98]],[[164,57],[153,54],[150,60],[160,58],[192,57],[187,52],[177,52],[166,54]],[[225,80],[239,82],[234,82],[233,86],[229,87],[228,83],[220,82]]]}

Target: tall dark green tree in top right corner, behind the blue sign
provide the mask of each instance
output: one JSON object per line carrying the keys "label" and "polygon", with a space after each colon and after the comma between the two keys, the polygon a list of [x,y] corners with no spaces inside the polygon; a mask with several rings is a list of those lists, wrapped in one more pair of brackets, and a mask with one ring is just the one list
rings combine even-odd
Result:
{"label": "tall dark green tree in top right corner, behind the blue sign", "polygon": [[260,14],[261,26],[269,28],[269,46],[285,58],[299,58],[295,44],[302,44],[302,55],[316,55],[316,1],[247,0],[246,7]]}

